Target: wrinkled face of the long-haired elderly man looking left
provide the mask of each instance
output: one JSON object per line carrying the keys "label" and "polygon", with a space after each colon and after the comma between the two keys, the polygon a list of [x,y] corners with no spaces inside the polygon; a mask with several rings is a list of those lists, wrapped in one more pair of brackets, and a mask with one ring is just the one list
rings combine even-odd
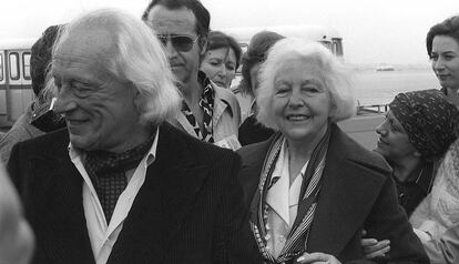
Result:
{"label": "wrinkled face of the long-haired elderly man looking left", "polygon": [[135,145],[140,120],[136,91],[105,70],[102,55],[113,55],[110,33],[80,31],[61,44],[53,60],[52,75],[59,91],[55,111],[65,116],[75,148],[124,151]]}

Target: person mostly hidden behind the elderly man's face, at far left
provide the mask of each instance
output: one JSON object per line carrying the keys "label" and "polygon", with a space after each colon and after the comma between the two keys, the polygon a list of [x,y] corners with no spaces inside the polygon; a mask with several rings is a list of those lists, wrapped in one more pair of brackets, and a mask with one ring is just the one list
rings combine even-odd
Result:
{"label": "person mostly hidden behind the elderly man's face, at far left", "polygon": [[8,163],[11,149],[16,143],[65,125],[63,119],[50,111],[54,84],[47,80],[52,48],[61,27],[49,27],[32,45],[30,74],[35,100],[30,104],[26,113],[19,116],[10,131],[3,138],[0,138],[0,158],[4,164]]}

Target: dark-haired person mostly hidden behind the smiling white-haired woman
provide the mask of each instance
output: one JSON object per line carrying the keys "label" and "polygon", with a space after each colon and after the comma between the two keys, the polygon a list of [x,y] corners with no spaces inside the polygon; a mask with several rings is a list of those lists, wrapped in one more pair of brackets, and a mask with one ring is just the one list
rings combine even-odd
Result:
{"label": "dark-haired person mostly hidden behind the smiling white-haired woman", "polygon": [[239,84],[239,91],[251,103],[248,109],[242,110],[243,113],[247,113],[247,118],[239,126],[239,142],[242,145],[265,141],[274,133],[274,130],[265,128],[256,121],[255,95],[259,84],[258,70],[265,61],[269,49],[283,38],[280,34],[271,31],[256,33],[243,55],[243,79]]}

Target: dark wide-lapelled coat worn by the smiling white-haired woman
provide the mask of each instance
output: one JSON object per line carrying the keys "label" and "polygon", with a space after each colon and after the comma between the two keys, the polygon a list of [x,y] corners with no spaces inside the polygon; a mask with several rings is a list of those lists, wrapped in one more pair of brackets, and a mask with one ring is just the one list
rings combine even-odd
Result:
{"label": "dark wide-lapelled coat worn by the smiling white-haired woman", "polygon": [[[239,149],[239,180],[251,207],[271,140]],[[382,263],[429,263],[404,210],[398,206],[391,170],[378,154],[365,150],[334,124],[323,172],[323,186],[307,252],[323,252],[341,262],[363,258],[361,231],[390,240]],[[253,211],[254,209],[249,209]]]}

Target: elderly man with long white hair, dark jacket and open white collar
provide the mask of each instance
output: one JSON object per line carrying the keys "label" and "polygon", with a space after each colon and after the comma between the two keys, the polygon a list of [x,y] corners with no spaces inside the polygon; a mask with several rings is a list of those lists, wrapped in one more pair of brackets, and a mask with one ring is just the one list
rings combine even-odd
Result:
{"label": "elderly man with long white hair, dark jacket and open white collar", "polygon": [[55,43],[67,130],[22,142],[9,171],[33,263],[252,263],[239,160],[164,122],[181,98],[152,30],[99,10]]}

